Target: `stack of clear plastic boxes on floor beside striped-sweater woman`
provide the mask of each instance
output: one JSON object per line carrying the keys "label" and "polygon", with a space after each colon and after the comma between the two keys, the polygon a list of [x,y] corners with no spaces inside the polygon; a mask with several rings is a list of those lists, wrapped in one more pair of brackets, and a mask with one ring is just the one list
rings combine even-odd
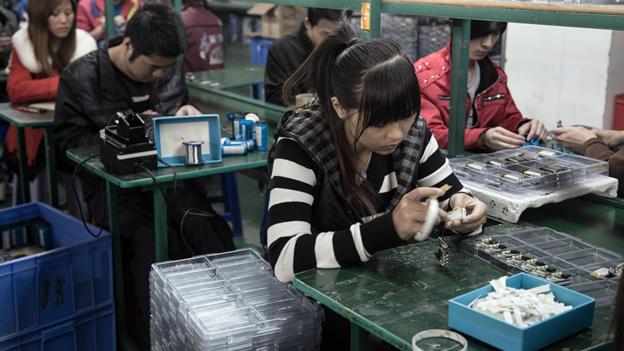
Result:
{"label": "stack of clear plastic boxes on floor beside striped-sweater woman", "polygon": [[322,309],[251,249],[155,263],[152,350],[317,350]]}

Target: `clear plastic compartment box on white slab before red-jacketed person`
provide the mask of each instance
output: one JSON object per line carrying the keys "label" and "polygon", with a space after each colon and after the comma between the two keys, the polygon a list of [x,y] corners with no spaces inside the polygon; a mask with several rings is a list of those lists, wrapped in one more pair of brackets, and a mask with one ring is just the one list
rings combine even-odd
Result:
{"label": "clear plastic compartment box on white slab before red-jacketed person", "polygon": [[515,194],[552,192],[609,171],[607,162],[538,146],[453,158],[450,162],[461,180]]}

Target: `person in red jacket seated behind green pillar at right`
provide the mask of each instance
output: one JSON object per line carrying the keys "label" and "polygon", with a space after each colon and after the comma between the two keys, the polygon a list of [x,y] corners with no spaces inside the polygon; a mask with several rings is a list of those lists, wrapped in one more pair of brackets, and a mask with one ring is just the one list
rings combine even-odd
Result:
{"label": "person in red jacket seated behind green pillar at right", "polygon": [[[466,150],[493,151],[546,140],[542,122],[522,116],[507,87],[507,75],[488,57],[507,28],[505,22],[472,21],[468,51]],[[414,64],[421,89],[420,114],[441,148],[448,146],[451,48],[429,54]]]}

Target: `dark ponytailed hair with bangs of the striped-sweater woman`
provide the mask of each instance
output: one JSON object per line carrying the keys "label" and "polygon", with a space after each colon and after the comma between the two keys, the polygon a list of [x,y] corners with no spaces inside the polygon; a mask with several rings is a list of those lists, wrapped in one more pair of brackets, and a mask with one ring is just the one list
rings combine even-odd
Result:
{"label": "dark ponytailed hair with bangs of the striped-sweater woman", "polygon": [[[329,124],[347,200],[373,214],[372,191],[361,186],[357,172],[355,145],[364,129],[381,127],[420,112],[420,90],[410,59],[392,40],[358,41],[346,20],[314,49],[297,71],[286,81],[284,101],[292,101],[293,88],[307,84],[318,96],[323,117]],[[349,113],[358,114],[358,128],[349,145],[344,121],[338,117],[331,97]]]}

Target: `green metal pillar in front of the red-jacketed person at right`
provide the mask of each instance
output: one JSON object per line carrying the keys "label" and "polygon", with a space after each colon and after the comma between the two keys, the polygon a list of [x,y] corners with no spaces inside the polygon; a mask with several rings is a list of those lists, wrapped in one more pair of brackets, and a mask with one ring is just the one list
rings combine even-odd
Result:
{"label": "green metal pillar in front of the red-jacketed person at right", "polygon": [[453,19],[452,23],[451,106],[449,116],[448,154],[451,157],[455,157],[464,153],[470,20]]}

